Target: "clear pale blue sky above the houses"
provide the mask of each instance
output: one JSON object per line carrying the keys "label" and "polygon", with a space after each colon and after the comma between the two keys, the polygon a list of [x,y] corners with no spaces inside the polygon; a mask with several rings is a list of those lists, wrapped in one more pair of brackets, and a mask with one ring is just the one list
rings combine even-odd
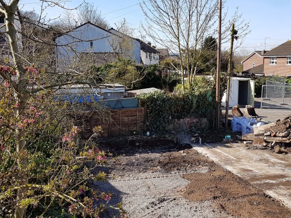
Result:
{"label": "clear pale blue sky above the houses", "polygon": [[[64,1],[65,2],[65,1]],[[68,0],[65,5],[68,8],[77,7],[82,0]],[[111,27],[125,19],[128,24],[136,28],[135,35],[138,37],[140,22],[144,22],[144,17],[138,0],[86,0],[94,3],[101,12],[101,15],[109,22]],[[20,0],[20,9],[40,10],[40,0]],[[288,21],[291,9],[290,0],[228,0],[222,13],[228,15],[234,13],[236,8],[242,13],[242,18],[249,21],[251,31],[242,42],[241,50],[249,52],[257,50],[270,50],[287,40],[291,40],[291,28]],[[47,16],[56,18],[62,15],[63,10],[57,7],[48,8]],[[239,33],[238,33],[239,35]],[[240,39],[239,39],[240,40]],[[227,49],[229,45],[222,45],[222,49]]]}

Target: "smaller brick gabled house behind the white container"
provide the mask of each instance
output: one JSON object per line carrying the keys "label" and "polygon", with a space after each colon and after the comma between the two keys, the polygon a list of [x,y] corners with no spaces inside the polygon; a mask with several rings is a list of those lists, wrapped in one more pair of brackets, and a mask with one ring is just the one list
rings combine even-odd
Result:
{"label": "smaller brick gabled house behind the white container", "polygon": [[[242,64],[242,72],[243,73],[250,73],[249,70],[252,68],[256,68],[260,65],[263,64],[263,57],[262,55],[265,53],[266,51],[254,51],[252,54],[250,54],[248,57],[246,57],[242,62],[240,62]],[[256,72],[256,74],[260,74],[263,73],[263,71],[259,72],[259,70],[261,70],[260,66],[259,68],[256,68],[254,70],[252,70],[252,73]]]}

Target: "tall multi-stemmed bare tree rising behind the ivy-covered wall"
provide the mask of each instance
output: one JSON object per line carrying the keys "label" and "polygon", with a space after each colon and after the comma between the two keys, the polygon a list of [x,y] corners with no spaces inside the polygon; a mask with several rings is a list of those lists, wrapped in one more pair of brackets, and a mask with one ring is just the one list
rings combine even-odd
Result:
{"label": "tall multi-stemmed bare tree rising behind the ivy-covered wall", "polygon": [[[215,36],[216,33],[217,1],[143,0],[140,7],[146,18],[146,24],[142,25],[144,32],[157,45],[178,53],[180,69],[177,70],[181,73],[183,90],[185,91],[185,72],[191,88],[198,61],[204,52],[203,39]],[[240,16],[235,13],[230,24],[239,20]],[[224,34],[229,35],[230,24],[225,23]],[[245,27],[244,22],[240,21],[240,24]]]}

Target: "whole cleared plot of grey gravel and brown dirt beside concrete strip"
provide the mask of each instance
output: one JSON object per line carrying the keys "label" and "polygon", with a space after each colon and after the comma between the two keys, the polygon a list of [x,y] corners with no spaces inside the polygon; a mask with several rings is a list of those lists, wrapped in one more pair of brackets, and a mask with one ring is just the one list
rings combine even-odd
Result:
{"label": "whole cleared plot of grey gravel and brown dirt beside concrete strip", "polygon": [[[189,145],[172,141],[167,147],[169,140],[151,140],[141,147],[132,141],[128,153],[106,166],[110,169],[112,185],[108,187],[112,199],[116,196],[114,192],[118,193],[130,217],[169,217],[184,213],[191,215],[183,217],[291,217],[291,210],[279,201],[196,150],[185,149]],[[119,148],[116,153],[124,152],[123,146],[116,146]],[[175,147],[177,150],[173,151]],[[190,183],[184,182],[185,179]],[[171,189],[172,185],[175,187]],[[183,197],[194,204],[185,202]],[[181,205],[186,203],[182,211]]]}

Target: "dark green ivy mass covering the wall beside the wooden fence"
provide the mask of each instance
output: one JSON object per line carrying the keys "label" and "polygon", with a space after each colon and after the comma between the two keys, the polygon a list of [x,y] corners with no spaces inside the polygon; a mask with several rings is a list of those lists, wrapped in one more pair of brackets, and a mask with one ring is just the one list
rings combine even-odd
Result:
{"label": "dark green ivy mass covering the wall beside the wooden fence", "polygon": [[201,117],[213,118],[215,101],[212,91],[196,93],[153,92],[138,96],[140,106],[147,105],[148,120],[145,130],[165,132],[175,119],[183,119],[191,113]]}

